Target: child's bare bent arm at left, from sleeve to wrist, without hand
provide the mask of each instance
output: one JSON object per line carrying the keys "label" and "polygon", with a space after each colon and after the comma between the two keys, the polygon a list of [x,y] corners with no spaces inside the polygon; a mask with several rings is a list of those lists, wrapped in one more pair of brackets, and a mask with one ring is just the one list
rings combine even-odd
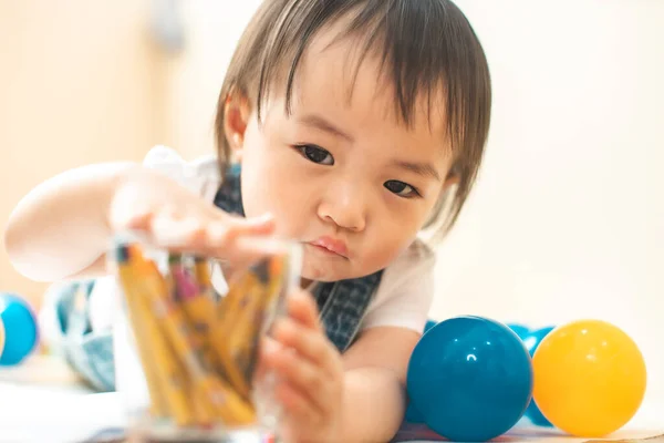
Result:
{"label": "child's bare bent arm at left, from sleeve to wrist, without hand", "polygon": [[68,171],[23,197],[4,231],[17,270],[33,280],[54,281],[103,269],[111,233],[107,209],[132,167],[114,163]]}

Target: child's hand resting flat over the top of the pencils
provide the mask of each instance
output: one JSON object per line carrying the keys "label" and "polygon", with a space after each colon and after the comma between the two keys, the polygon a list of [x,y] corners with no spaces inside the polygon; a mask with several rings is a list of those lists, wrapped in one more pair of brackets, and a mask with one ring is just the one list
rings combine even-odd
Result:
{"label": "child's hand resting flat over the top of the pencils", "polygon": [[247,237],[273,230],[271,217],[245,219],[152,171],[131,174],[112,198],[108,225],[114,231],[134,230],[155,247],[237,260],[252,249]]}

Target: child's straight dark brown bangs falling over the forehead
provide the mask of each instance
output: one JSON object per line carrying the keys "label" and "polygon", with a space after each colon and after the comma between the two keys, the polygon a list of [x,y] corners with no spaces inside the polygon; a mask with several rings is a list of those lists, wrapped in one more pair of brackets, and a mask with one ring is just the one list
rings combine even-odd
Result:
{"label": "child's straight dark brown bangs falling over the forehead", "polygon": [[[448,1],[318,0],[282,3],[276,25],[263,42],[257,65],[256,106],[260,120],[263,101],[279,79],[291,113],[300,63],[321,30],[343,20],[335,42],[352,38],[360,56],[355,75],[367,56],[377,56],[381,75],[395,95],[395,115],[413,124],[416,106],[425,100],[442,103],[454,151],[484,126],[490,95],[488,66],[481,47],[461,11]],[[484,73],[487,75],[484,75]],[[486,122],[488,124],[488,122]]]}

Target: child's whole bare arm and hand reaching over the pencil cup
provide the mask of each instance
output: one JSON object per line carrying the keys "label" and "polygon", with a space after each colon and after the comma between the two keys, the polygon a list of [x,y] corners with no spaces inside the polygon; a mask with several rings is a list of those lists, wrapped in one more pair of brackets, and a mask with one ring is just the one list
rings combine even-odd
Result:
{"label": "child's whole bare arm and hand reaching over the pencil cup", "polygon": [[272,225],[230,216],[157,171],[114,163],[37,186],[12,213],[4,245],[19,272],[55,281],[105,274],[104,254],[120,230],[142,231],[157,247],[237,258],[235,239],[269,234]]}

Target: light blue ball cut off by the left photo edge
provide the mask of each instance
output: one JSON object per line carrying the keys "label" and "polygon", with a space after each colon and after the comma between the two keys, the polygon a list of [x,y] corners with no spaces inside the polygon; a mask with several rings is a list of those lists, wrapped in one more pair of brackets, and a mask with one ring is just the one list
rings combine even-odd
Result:
{"label": "light blue ball cut off by the left photo edge", "polygon": [[4,324],[4,350],[0,365],[19,364],[34,350],[39,337],[34,312],[20,297],[0,293],[0,319]]}

